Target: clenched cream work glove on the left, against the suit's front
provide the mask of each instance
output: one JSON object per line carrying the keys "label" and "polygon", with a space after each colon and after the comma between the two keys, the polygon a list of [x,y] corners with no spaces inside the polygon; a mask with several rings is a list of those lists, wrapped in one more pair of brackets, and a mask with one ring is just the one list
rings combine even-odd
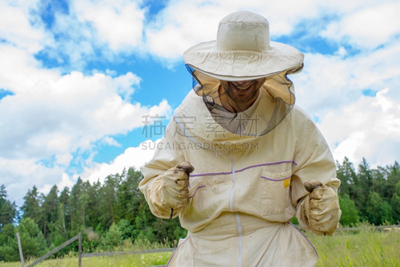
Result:
{"label": "clenched cream work glove on the left, against the suit's front", "polygon": [[185,206],[189,194],[189,174],[193,166],[185,161],[162,174],[160,200],[163,206],[180,210]]}

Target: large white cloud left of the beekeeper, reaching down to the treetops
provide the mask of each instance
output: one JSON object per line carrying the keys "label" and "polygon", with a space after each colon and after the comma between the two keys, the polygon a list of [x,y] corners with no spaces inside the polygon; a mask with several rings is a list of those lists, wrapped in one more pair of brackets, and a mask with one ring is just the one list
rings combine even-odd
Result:
{"label": "large white cloud left of the beekeeper, reaching down to the treetops", "polygon": [[140,83],[131,72],[62,75],[40,68],[23,49],[7,43],[0,49],[7,54],[0,61],[0,87],[14,93],[0,99],[0,177],[18,205],[33,185],[47,193],[53,184],[73,184],[66,167],[72,161],[91,165],[92,157],[72,153],[93,155],[96,141],[115,145],[110,136],[142,126],[143,115],[170,113],[166,100],[151,106],[127,101]]}

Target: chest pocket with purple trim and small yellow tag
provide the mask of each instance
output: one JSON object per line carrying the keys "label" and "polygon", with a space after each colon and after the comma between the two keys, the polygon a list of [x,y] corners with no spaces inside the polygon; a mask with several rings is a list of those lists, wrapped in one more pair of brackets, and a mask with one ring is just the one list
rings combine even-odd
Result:
{"label": "chest pocket with purple trim and small yellow tag", "polygon": [[282,214],[290,201],[291,170],[271,172],[262,170],[259,177],[261,215]]}

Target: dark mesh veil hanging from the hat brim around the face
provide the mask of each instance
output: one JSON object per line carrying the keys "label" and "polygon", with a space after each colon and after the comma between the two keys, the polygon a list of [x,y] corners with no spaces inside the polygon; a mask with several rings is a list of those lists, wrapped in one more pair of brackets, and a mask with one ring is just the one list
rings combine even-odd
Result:
{"label": "dark mesh veil hanging from the hat brim around the face", "polygon": [[193,77],[193,90],[202,97],[210,117],[216,123],[235,134],[260,136],[274,129],[292,109],[295,102],[294,87],[287,74],[298,72],[302,65],[266,77],[256,91],[256,100],[245,110],[222,104],[223,97],[237,101],[229,95],[225,81],[206,75],[190,65],[186,65],[186,68]]}

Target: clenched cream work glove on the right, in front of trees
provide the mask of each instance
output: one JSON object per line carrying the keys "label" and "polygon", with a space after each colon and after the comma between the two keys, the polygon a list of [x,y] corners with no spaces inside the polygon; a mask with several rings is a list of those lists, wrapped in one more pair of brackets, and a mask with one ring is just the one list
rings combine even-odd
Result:
{"label": "clenched cream work glove on the right, in front of trees", "polygon": [[304,183],[309,192],[301,205],[302,219],[319,235],[332,235],[339,227],[341,210],[335,191],[322,182],[310,180]]}

